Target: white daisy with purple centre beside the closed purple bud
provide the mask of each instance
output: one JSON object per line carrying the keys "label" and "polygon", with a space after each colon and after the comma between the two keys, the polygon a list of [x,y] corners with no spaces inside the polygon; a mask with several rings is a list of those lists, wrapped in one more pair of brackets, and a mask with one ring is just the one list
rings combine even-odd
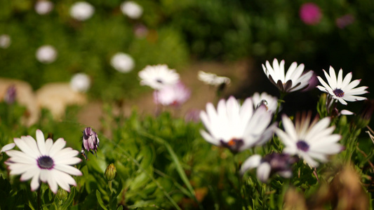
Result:
{"label": "white daisy with purple centre beside the closed purple bud", "polygon": [[44,141],[43,132],[36,130],[36,141],[27,136],[15,138],[14,143],[21,151],[6,151],[11,158],[5,163],[12,175],[22,174],[21,181],[32,179],[31,190],[39,188],[40,181],[47,182],[53,193],[57,193],[58,186],[68,192],[70,186],[76,186],[70,175],[81,176],[82,173],[71,165],[81,162],[81,159],[75,157],[79,154],[78,151],[64,148],[64,139]]}

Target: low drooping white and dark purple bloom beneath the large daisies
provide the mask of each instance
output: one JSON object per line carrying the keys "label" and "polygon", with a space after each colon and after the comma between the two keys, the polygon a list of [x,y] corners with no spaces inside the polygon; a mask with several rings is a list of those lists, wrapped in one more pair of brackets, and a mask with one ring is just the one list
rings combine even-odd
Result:
{"label": "low drooping white and dark purple bloom beneath the large daisies", "polygon": [[252,155],[243,162],[240,172],[244,174],[249,169],[257,168],[257,178],[262,182],[266,182],[272,174],[290,178],[292,176],[291,165],[297,161],[298,158],[288,154],[270,153],[264,158],[260,155]]}

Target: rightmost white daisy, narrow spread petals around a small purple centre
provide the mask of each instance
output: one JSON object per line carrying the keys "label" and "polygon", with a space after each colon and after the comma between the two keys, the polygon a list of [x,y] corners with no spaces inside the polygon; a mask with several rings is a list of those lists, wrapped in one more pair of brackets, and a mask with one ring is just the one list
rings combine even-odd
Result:
{"label": "rightmost white daisy, narrow spread petals around a small purple centre", "polygon": [[[361,80],[352,80],[352,72],[348,73],[343,79],[343,70],[340,69],[338,73],[338,78],[336,78],[335,71],[332,66],[330,66],[330,75],[323,70],[325,73],[328,84],[320,77],[317,76],[319,82],[323,85],[318,85],[318,89],[330,94],[333,99],[336,99],[341,104],[347,105],[347,102],[355,102],[365,100],[366,97],[358,97],[357,94],[364,94],[366,91],[366,86],[356,87],[359,85]],[[346,102],[347,101],[347,102]]]}

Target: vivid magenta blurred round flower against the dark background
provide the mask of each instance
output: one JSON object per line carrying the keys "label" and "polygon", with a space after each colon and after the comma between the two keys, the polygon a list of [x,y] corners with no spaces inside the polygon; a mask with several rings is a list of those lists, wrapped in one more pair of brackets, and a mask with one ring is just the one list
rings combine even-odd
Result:
{"label": "vivid magenta blurred round flower against the dark background", "polygon": [[300,7],[300,18],[307,25],[316,25],[321,21],[321,9],[315,3],[304,3]]}

